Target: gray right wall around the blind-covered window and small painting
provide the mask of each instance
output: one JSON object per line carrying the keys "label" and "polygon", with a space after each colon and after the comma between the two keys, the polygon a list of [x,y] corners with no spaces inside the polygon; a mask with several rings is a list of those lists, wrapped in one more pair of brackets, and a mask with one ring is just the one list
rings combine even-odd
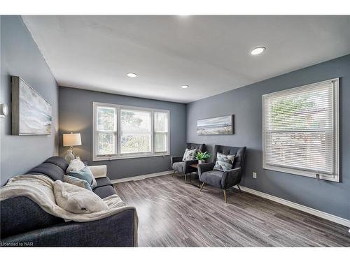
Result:
{"label": "gray right wall around the blind-covered window and small painting", "polygon": [[[262,169],[262,94],[340,77],[341,182]],[[187,140],[247,147],[245,187],[350,219],[350,55],[188,104]],[[196,120],[235,114],[235,135],[197,136]],[[258,173],[253,179],[252,172]]]}

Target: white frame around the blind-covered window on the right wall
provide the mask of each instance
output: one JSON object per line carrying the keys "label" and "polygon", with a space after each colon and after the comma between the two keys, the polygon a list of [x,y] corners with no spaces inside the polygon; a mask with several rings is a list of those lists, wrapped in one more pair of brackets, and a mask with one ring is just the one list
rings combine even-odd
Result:
{"label": "white frame around the blind-covered window on the right wall", "polygon": [[[271,96],[273,94],[283,94],[283,92],[290,92],[290,90],[295,89],[304,89],[308,87],[312,87],[315,85],[320,85],[325,82],[333,83],[333,136],[334,136],[334,145],[333,145],[333,153],[335,156],[335,161],[333,163],[333,168],[335,173],[333,175],[317,173],[315,171],[310,170],[302,170],[294,167],[286,168],[282,166],[272,166],[266,163],[265,161],[265,98],[267,96]],[[330,80],[325,80],[321,82],[316,82],[310,85],[303,85],[300,87],[294,87],[292,89],[286,89],[279,92],[273,92],[269,94],[262,95],[262,168],[267,170],[274,170],[283,173],[289,173],[293,175],[302,175],[305,177],[319,177],[322,180],[329,180],[333,182],[339,182],[339,78],[333,78]]]}

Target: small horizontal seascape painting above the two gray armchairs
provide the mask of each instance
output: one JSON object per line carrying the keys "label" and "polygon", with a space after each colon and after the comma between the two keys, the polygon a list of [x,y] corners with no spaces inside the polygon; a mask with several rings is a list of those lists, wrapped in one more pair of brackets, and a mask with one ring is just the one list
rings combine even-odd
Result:
{"label": "small horizontal seascape painting above the two gray armchairs", "polygon": [[233,115],[197,120],[198,135],[232,135]]}

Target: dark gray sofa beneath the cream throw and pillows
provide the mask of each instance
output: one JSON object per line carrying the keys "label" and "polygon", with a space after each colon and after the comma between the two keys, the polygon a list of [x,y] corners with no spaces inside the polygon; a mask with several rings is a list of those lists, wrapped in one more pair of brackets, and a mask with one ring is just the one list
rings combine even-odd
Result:
{"label": "dark gray sofa beneath the cream throw and pillows", "polygon": [[[62,157],[50,157],[28,173],[62,180],[68,163]],[[101,167],[93,168],[97,187],[94,193],[106,198],[116,191]],[[44,212],[31,199],[19,196],[0,202],[1,245],[34,247],[133,247],[134,210],[125,210],[97,221],[78,223]]]}

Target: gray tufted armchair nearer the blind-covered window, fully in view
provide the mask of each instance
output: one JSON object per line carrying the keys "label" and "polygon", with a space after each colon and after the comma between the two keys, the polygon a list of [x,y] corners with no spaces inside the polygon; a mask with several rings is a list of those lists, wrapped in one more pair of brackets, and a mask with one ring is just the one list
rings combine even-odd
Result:
{"label": "gray tufted armchair nearer the blind-covered window, fully in view", "polygon": [[[230,170],[219,171],[214,170],[216,163],[217,153],[235,155],[235,161],[233,167]],[[230,187],[238,186],[241,182],[242,169],[244,168],[244,160],[246,157],[246,147],[228,147],[225,145],[215,145],[213,162],[211,163],[200,163],[198,165],[198,175],[200,176],[200,182],[202,185],[200,191],[202,191],[204,184],[210,184],[211,186],[223,189],[223,196],[225,203],[227,203],[226,190]]]}

